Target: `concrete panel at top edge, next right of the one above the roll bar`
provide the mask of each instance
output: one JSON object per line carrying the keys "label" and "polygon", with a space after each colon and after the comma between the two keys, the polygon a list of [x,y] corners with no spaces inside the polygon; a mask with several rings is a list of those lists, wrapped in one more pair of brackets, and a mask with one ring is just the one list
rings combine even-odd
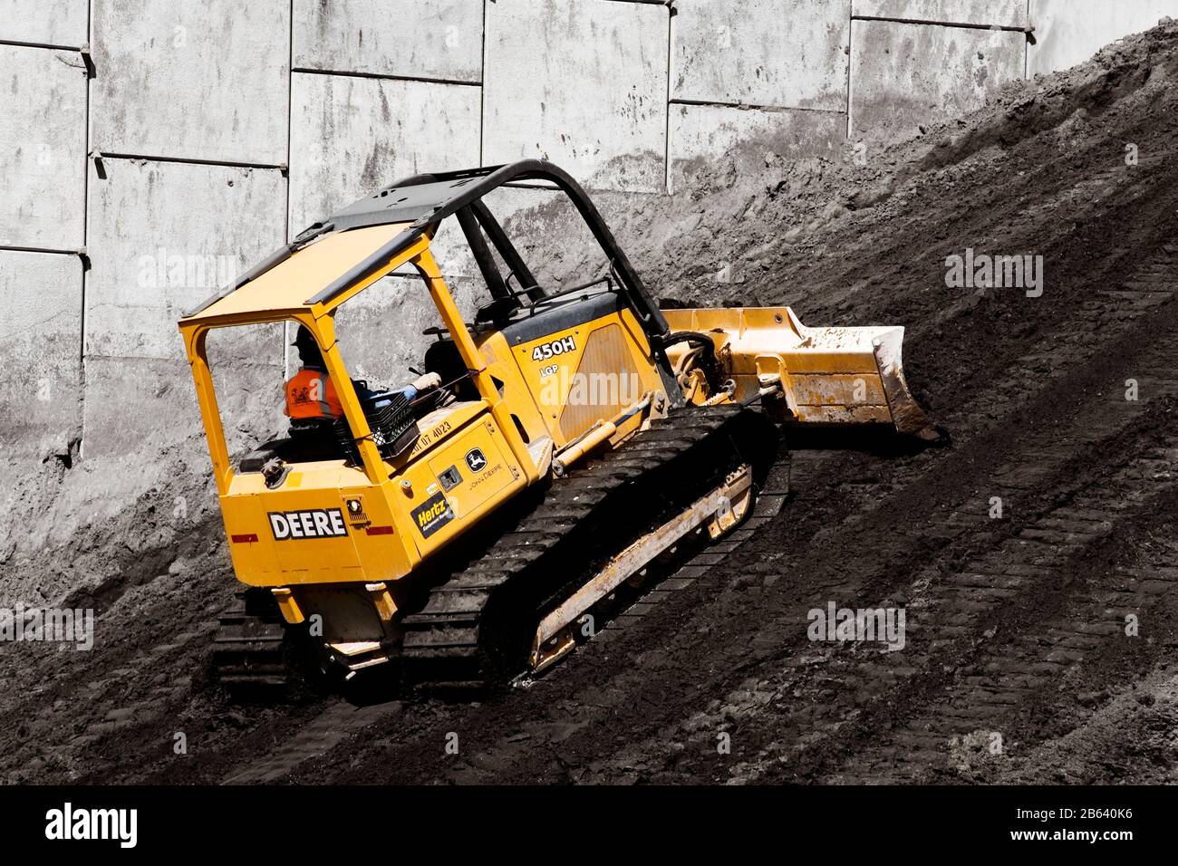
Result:
{"label": "concrete panel at top edge, next right of the one above the roll bar", "polygon": [[847,110],[851,0],[690,0],[671,18],[671,97]]}

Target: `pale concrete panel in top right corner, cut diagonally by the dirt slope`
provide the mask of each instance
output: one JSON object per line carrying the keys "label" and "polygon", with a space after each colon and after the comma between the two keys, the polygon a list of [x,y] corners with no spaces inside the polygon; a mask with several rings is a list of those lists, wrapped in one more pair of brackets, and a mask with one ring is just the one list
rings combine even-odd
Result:
{"label": "pale concrete panel in top right corner, cut diagonally by the dirt slope", "polygon": [[1178,18],[1178,0],[1031,0],[1035,41],[1028,49],[1030,74],[1083,64],[1104,46],[1131,33]]}

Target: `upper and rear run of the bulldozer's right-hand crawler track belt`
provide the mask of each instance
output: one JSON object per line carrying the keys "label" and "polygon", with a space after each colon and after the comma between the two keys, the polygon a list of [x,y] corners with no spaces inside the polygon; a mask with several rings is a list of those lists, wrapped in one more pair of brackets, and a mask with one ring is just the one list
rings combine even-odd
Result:
{"label": "upper and rear run of the bulldozer's right-hand crawler track belt", "polygon": [[510,531],[405,619],[409,679],[487,686],[519,673],[545,609],[736,463],[753,464],[763,482],[777,441],[756,410],[684,408],[554,481]]}

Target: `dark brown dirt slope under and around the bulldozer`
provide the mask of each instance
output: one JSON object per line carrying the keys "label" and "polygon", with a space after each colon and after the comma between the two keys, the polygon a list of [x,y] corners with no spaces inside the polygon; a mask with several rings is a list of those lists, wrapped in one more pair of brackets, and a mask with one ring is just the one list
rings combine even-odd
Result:
{"label": "dark brown dirt slope under and around the bulldozer", "polygon": [[[229,581],[216,514],[178,530],[152,511],[173,488],[196,496],[206,484],[176,467],[163,494],[110,517],[110,535],[80,527],[78,549],[47,537],[40,557],[0,564],[2,580],[27,575],[57,597],[79,561],[115,563],[95,596],[104,640],[92,653],[0,650],[2,771],[165,782],[1176,780],[1176,75],[1167,25],[921,138],[868,143],[866,165],[851,150],[839,164],[770,164],[757,179],[721,164],[690,196],[651,199],[617,226],[663,298],[906,324],[908,379],[952,448],[795,452],[777,516],[550,675],[481,705],[226,705],[201,675]],[[946,287],[946,257],[967,247],[1043,256],[1043,296]],[[1126,399],[1130,379],[1139,399]],[[905,648],[810,642],[808,612],[832,601],[902,606]],[[457,755],[445,752],[451,734]]]}

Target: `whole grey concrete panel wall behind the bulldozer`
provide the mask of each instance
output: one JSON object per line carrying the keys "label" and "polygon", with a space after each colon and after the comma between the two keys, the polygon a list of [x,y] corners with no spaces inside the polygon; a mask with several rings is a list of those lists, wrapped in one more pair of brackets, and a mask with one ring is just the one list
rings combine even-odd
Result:
{"label": "whole grey concrete panel wall behind the bulldozer", "polygon": [[[1166,14],[1178,0],[0,0],[0,436],[119,457],[196,430],[180,310],[398,176],[545,157],[608,216],[720,157],[840,158]],[[548,193],[492,207],[561,260],[574,223]],[[416,284],[384,287],[350,339],[395,378],[422,343],[390,335],[434,318]],[[214,343],[234,439],[280,419],[283,343]]]}

